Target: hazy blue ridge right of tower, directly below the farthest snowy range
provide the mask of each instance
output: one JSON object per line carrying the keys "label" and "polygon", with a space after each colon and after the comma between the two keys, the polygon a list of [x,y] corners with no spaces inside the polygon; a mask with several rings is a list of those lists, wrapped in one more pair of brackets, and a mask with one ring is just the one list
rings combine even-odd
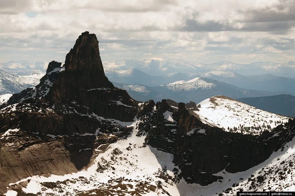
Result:
{"label": "hazy blue ridge right of tower, directly below the farthest snowy range", "polygon": [[243,76],[228,71],[205,71],[188,73],[171,73],[164,76],[151,76],[138,69],[105,71],[110,81],[124,84],[140,84],[146,86],[158,86],[173,83],[180,80],[191,80],[196,77],[209,78],[222,81],[240,88],[260,91],[279,92],[295,95],[295,78],[278,77],[272,74]]}

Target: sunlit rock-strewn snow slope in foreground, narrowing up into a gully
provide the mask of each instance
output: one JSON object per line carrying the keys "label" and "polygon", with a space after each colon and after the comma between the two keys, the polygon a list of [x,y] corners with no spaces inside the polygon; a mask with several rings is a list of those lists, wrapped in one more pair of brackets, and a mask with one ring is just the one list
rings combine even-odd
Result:
{"label": "sunlit rock-strewn snow slope in foreground, narrowing up into a gully", "polygon": [[[179,195],[177,185],[173,183],[173,155],[144,146],[145,136],[136,135],[139,122],[139,119],[124,122],[133,127],[130,137],[109,145],[87,170],[64,176],[33,176],[11,186],[30,180],[22,191],[43,195],[71,195],[73,192],[83,195],[101,192],[104,195]],[[95,150],[99,152],[99,148]],[[9,193],[16,195],[16,191]]]}

